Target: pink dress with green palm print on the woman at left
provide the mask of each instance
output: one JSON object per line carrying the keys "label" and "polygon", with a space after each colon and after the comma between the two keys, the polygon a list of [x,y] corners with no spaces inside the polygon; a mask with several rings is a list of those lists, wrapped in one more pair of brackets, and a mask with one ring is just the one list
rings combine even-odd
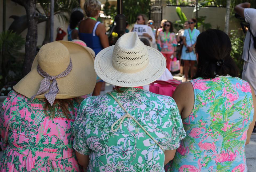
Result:
{"label": "pink dress with green palm print on the woman at left", "polygon": [[[55,108],[55,118],[45,114],[46,99],[34,99],[15,91],[9,92],[0,115],[1,172],[80,171],[72,149],[74,123],[79,104],[70,108],[71,119]],[[47,110],[47,113],[50,113]]]}

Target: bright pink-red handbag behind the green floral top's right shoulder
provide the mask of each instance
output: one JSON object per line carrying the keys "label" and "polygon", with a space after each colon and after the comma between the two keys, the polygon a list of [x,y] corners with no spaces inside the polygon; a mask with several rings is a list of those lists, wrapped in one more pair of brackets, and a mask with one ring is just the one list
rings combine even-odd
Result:
{"label": "bright pink-red handbag behind the green floral top's right shoulder", "polygon": [[181,82],[174,79],[167,81],[155,81],[149,84],[149,91],[152,93],[171,97],[179,84],[181,84]]}

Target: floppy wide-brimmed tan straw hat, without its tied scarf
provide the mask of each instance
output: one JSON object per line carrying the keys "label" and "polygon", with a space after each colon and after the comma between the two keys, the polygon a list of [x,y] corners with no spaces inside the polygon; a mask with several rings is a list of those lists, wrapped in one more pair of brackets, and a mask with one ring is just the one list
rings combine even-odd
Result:
{"label": "floppy wide-brimmed tan straw hat, without its tied scarf", "polygon": [[[37,94],[44,79],[37,71],[38,64],[49,75],[57,76],[67,69],[70,59],[71,71],[66,76],[56,79],[59,92],[55,98],[73,98],[93,92],[97,77],[93,65],[94,59],[87,47],[71,41],[55,41],[43,45],[33,61],[29,74],[13,89],[31,98]],[[45,93],[35,98],[45,98]]]}

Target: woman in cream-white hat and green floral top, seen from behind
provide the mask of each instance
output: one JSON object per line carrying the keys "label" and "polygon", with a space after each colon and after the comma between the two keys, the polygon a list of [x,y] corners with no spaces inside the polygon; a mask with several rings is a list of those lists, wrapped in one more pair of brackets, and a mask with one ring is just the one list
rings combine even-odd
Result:
{"label": "woman in cream-white hat and green floral top, seen from behind", "polygon": [[171,97],[133,88],[152,83],[166,68],[163,55],[135,32],[100,51],[100,78],[116,90],[86,98],[73,125],[73,148],[87,171],[160,171],[186,136]]}

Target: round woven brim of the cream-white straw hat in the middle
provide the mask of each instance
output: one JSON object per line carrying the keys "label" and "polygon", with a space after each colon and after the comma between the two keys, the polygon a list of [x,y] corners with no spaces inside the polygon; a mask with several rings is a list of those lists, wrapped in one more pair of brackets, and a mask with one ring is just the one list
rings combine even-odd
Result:
{"label": "round woven brim of the cream-white straw hat in the middle", "polygon": [[157,80],[165,71],[166,59],[158,50],[146,46],[149,55],[148,66],[140,72],[124,73],[112,65],[114,45],[101,50],[94,61],[94,69],[103,81],[119,87],[139,87]]}

